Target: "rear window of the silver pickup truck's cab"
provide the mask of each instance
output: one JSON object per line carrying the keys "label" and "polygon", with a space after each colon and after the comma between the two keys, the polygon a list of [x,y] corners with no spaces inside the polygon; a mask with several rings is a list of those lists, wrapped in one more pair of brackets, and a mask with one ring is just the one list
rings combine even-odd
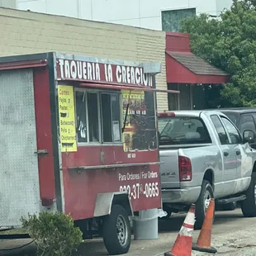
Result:
{"label": "rear window of the silver pickup truck's cab", "polygon": [[201,118],[173,116],[159,118],[160,145],[211,143],[211,137]]}

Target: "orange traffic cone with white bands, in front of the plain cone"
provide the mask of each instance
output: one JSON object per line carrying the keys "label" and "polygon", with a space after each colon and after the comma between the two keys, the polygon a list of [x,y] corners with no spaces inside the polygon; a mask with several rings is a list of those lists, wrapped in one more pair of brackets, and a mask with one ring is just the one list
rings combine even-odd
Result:
{"label": "orange traffic cone with white bands, in front of the plain cone", "polygon": [[183,222],[178,237],[173,244],[173,249],[164,256],[191,256],[192,254],[192,231],[195,224],[195,205],[192,205],[187,212],[186,219]]}

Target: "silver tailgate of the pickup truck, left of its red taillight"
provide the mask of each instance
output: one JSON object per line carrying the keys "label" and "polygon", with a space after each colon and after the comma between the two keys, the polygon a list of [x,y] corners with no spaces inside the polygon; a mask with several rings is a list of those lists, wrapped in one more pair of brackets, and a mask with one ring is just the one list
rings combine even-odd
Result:
{"label": "silver tailgate of the pickup truck, left of its red taillight", "polygon": [[162,188],[178,188],[179,171],[178,171],[178,149],[160,149],[160,173]]}

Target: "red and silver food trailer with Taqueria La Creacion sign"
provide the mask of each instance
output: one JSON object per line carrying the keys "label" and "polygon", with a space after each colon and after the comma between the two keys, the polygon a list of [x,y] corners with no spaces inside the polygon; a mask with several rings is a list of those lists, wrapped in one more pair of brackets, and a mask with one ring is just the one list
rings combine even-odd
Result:
{"label": "red and silver food trailer with Taqueria La Creacion sign", "polygon": [[129,250],[128,216],[161,207],[159,71],[149,71],[157,66],[59,53],[0,58],[2,229],[28,213],[63,211],[84,238],[101,234],[110,254]]}

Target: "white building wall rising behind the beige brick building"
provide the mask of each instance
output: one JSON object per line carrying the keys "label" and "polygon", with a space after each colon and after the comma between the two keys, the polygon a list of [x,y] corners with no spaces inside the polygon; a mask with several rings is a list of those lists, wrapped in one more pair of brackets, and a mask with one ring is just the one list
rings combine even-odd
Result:
{"label": "white building wall rising behind the beige brick building", "polygon": [[163,10],[195,7],[197,14],[219,15],[231,3],[232,0],[17,0],[17,8],[161,30]]}

